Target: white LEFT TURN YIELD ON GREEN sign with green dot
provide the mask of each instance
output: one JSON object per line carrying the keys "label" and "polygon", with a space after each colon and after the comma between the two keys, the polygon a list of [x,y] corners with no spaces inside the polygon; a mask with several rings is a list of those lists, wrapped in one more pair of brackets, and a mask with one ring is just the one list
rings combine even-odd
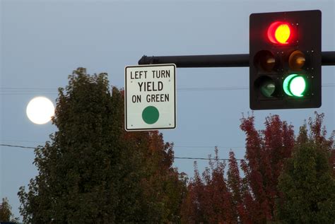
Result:
{"label": "white LEFT TURN YIELD ON GREEN sign with green dot", "polygon": [[175,64],[125,68],[124,123],[127,131],[175,129]]}

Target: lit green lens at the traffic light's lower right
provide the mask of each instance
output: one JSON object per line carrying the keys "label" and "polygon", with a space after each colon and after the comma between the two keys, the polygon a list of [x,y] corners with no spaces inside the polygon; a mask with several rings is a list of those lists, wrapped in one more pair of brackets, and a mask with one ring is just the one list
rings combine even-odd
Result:
{"label": "lit green lens at the traffic light's lower right", "polygon": [[303,97],[306,86],[305,78],[297,74],[287,76],[283,82],[284,92],[292,97]]}

